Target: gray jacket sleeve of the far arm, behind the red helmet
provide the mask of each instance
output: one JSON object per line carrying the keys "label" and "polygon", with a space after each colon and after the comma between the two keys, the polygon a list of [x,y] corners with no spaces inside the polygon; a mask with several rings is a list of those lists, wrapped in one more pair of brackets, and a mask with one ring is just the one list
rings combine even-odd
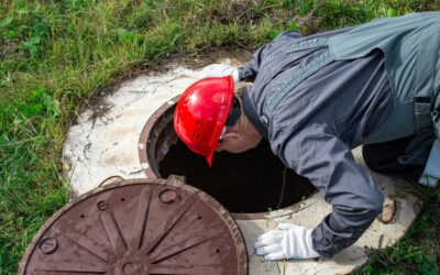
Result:
{"label": "gray jacket sleeve of the far arm, behind the red helmet", "polygon": [[242,81],[253,82],[260,72],[260,66],[264,56],[271,53],[274,48],[285,46],[298,38],[304,37],[299,32],[282,32],[271,43],[258,48],[252,56],[252,59],[244,66],[239,67],[239,78]]}

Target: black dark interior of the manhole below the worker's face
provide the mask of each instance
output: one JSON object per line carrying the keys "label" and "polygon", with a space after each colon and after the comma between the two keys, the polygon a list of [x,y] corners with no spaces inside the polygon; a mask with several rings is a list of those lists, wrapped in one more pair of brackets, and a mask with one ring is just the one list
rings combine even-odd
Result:
{"label": "black dark interior of the manhole below the worker's face", "polygon": [[[193,153],[180,140],[158,164],[162,178],[186,176],[187,184],[216,198],[231,212],[264,212],[294,205],[315,191],[307,178],[285,166],[263,140],[242,154],[216,153],[212,168],[205,157]],[[284,173],[286,175],[284,175]],[[282,196],[285,177],[284,196]]]}

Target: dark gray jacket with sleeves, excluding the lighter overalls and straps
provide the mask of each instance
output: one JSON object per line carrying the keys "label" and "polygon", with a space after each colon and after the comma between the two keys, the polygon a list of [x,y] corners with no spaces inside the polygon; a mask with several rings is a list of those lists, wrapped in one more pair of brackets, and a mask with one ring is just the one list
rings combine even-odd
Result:
{"label": "dark gray jacket with sleeves, excluding the lighter overalls and straps", "polygon": [[345,31],[308,37],[282,33],[239,70],[242,80],[253,81],[243,96],[250,120],[285,165],[309,178],[333,207],[312,234],[315,250],[328,257],[354,243],[382,211],[383,196],[354,162],[351,148],[361,145],[393,111],[384,56],[376,51],[323,67],[283,99],[268,128],[258,119],[267,95],[324,48],[292,53],[267,65],[262,59],[287,44]]}

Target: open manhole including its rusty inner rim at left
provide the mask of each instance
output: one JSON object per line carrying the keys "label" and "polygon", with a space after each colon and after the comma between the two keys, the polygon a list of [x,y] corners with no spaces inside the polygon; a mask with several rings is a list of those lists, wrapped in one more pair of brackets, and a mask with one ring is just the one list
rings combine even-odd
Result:
{"label": "open manhole including its rusty inner rim at left", "polygon": [[295,205],[310,196],[311,183],[287,169],[267,141],[242,154],[216,153],[213,165],[191,152],[173,127],[175,102],[162,106],[146,122],[140,139],[140,158],[148,177],[186,177],[234,213],[257,213]]}

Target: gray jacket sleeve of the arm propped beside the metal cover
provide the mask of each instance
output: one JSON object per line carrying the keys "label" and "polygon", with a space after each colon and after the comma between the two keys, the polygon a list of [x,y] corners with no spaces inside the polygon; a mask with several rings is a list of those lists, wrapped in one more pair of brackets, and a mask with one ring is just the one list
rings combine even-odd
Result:
{"label": "gray jacket sleeve of the arm propped beside the metal cover", "polygon": [[332,257],[353,244],[382,212],[383,195],[350,147],[322,124],[295,134],[277,130],[271,140],[284,163],[309,178],[332,205],[332,212],[314,230],[314,249]]}

